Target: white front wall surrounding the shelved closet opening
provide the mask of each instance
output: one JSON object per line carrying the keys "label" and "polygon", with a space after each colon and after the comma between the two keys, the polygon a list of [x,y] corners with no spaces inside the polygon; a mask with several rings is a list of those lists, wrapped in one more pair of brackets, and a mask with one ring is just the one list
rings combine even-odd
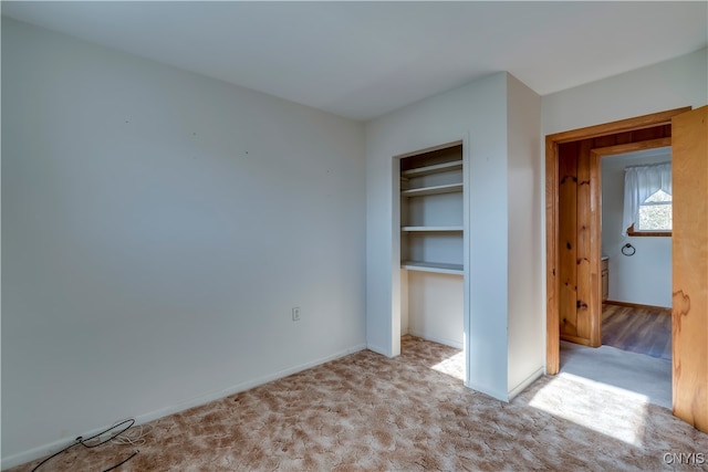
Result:
{"label": "white front wall surrounding the shelved closet opening", "polygon": [[[524,182],[521,192],[509,188],[507,87],[508,74],[493,74],[406,106],[366,125],[368,347],[389,356],[399,352],[400,271],[399,248],[395,238],[395,232],[399,230],[398,214],[393,204],[397,178],[393,174],[396,168],[392,162],[393,156],[465,139],[462,151],[468,159],[466,172],[470,229],[466,237],[465,256],[466,303],[469,304],[465,306],[467,317],[464,325],[467,333],[467,378],[470,387],[503,399],[509,397],[509,305],[520,306],[521,303],[517,305],[516,298],[525,297],[528,293],[519,295],[513,291],[516,287],[509,285],[510,204],[523,198],[540,204],[538,196],[534,199],[533,195],[524,195],[528,191],[527,177],[520,179]],[[537,109],[537,117],[539,113]],[[535,133],[534,146],[538,145],[538,128]],[[538,146],[529,153],[530,156],[537,155]],[[519,161],[524,159],[521,157]],[[531,166],[538,168],[538,164],[537,159]],[[516,177],[511,181],[516,183]],[[540,208],[533,211],[535,214],[539,212]],[[514,228],[527,234],[539,230],[537,223],[525,228],[520,222]],[[537,251],[540,251],[540,232],[528,235],[531,241],[529,244],[535,243]],[[535,269],[535,276],[541,277],[541,268]],[[522,273],[527,273],[525,266]],[[532,318],[542,317],[540,304],[528,306],[527,310],[532,313]],[[539,346],[542,349],[542,343]],[[542,364],[543,352],[539,350],[532,357]]]}

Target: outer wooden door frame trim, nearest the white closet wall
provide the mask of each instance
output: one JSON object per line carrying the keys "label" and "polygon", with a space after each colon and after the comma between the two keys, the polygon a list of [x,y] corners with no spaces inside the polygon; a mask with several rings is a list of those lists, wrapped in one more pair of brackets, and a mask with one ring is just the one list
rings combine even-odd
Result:
{"label": "outer wooden door frame trim, nearest the white closet wall", "polygon": [[[560,315],[559,292],[559,145],[581,139],[596,138],[625,132],[670,125],[671,117],[690,111],[681,107],[653,113],[635,118],[622,119],[602,125],[573,129],[548,135],[545,137],[545,280],[546,280],[546,321],[545,321],[545,373],[555,375],[560,369]],[[635,149],[636,150],[636,149]],[[600,155],[597,155],[600,158]],[[600,228],[597,228],[600,231]],[[597,239],[600,241],[600,239]],[[600,262],[597,261],[597,264]]]}

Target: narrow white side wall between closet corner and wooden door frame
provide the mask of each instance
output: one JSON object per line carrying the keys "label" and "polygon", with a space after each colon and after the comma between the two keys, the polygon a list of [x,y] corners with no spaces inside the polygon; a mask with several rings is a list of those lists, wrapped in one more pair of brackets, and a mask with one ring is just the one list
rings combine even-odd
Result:
{"label": "narrow white side wall between closet corner and wooden door frame", "polygon": [[543,189],[541,97],[508,75],[509,126],[509,391],[513,397],[544,371]]}

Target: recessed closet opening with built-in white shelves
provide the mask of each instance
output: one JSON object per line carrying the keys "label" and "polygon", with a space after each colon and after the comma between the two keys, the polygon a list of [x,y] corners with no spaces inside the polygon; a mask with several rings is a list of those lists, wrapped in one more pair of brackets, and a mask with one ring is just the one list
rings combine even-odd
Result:
{"label": "recessed closet opening with built-in white shelves", "polygon": [[[431,368],[465,381],[466,178],[462,141],[394,157],[398,192],[400,336],[438,349]],[[417,339],[431,342],[421,346]],[[449,349],[452,348],[452,349]]]}

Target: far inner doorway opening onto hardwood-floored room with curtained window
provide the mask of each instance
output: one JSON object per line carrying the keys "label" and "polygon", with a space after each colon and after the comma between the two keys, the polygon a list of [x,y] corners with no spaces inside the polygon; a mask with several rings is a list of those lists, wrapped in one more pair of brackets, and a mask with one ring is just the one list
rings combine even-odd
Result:
{"label": "far inner doorway opening onto hardwood-floored room with curtained window", "polygon": [[[638,151],[610,147],[594,153],[601,155],[602,167],[602,345],[662,358],[670,369],[671,197],[664,190],[671,192],[671,149],[670,143],[663,146],[666,140],[649,141]],[[653,145],[656,147],[649,147]],[[637,224],[629,228],[625,218],[627,172],[647,182],[642,195],[653,192],[639,206]],[[650,190],[657,185],[664,187]],[[637,192],[639,189],[632,195]],[[670,385],[668,376],[669,405]]]}

